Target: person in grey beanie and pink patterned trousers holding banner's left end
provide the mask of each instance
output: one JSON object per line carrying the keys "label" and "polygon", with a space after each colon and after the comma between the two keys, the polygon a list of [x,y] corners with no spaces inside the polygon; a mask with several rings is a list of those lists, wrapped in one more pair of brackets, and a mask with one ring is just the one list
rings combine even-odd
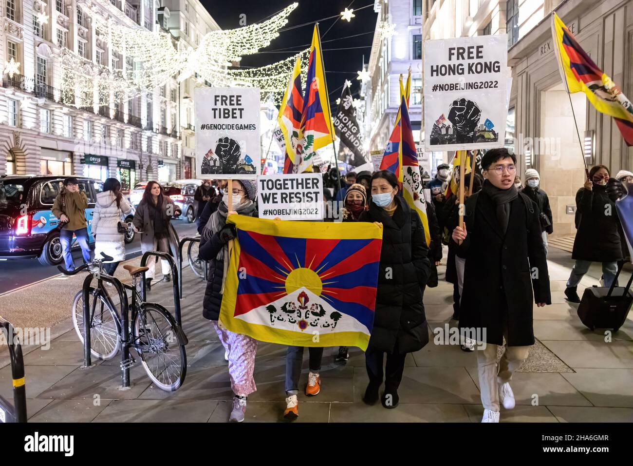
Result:
{"label": "person in grey beanie and pink patterned trousers holding banner's left end", "polygon": [[229,358],[231,389],[234,393],[230,422],[242,422],[246,413],[249,394],[256,391],[253,379],[257,340],[227,330],[220,318],[224,282],[229,267],[229,241],[235,238],[235,227],[227,224],[227,215],[237,213],[243,216],[257,217],[257,186],[253,181],[241,179],[233,181],[232,205],[229,207],[229,195],[222,197],[218,209],[213,212],[200,238],[198,255],[204,261],[210,261],[208,283],[204,292],[203,316],[213,323],[220,342]]}

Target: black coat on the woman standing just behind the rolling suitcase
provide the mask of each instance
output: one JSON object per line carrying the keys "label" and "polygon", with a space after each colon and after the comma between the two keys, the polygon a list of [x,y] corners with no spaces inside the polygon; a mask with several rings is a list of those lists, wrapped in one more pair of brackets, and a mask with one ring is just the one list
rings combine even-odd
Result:
{"label": "black coat on the woman standing just behind the rolling suitcase", "polygon": [[592,262],[614,262],[622,259],[615,202],[603,186],[593,190],[580,188],[576,193],[576,210],[580,222],[573,240],[572,259]]}

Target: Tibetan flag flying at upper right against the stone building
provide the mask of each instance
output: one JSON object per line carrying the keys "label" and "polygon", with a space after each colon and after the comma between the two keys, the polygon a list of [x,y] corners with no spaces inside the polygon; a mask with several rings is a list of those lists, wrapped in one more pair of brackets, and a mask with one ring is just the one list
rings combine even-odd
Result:
{"label": "Tibetan flag flying at upper right against the stone building", "polygon": [[633,145],[633,105],[627,96],[591,60],[556,13],[552,14],[551,29],[567,92],[584,93],[598,112],[615,118],[625,142]]}

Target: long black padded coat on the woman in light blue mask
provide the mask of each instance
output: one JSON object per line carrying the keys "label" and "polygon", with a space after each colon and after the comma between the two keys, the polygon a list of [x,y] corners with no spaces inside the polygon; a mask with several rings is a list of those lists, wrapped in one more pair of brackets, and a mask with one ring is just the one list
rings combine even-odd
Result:
{"label": "long black padded coat on the woman in light blue mask", "polygon": [[403,198],[393,217],[373,204],[361,221],[383,225],[375,316],[369,344],[387,353],[411,353],[429,342],[422,291],[430,271],[422,221]]}

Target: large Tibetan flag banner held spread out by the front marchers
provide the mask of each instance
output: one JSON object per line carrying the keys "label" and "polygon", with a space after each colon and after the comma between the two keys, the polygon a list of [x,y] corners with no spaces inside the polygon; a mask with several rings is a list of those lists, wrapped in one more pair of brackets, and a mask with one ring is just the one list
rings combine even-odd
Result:
{"label": "large Tibetan flag banner held spread out by the front marchers", "polygon": [[232,214],[220,320],[231,332],[289,346],[367,349],[382,226]]}

